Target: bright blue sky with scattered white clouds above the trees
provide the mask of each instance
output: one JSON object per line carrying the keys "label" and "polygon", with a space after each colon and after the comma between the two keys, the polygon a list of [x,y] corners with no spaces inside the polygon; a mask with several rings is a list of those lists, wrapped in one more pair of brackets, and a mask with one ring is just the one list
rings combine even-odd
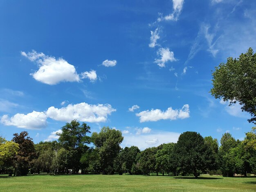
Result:
{"label": "bright blue sky with scattered white clouds above the trees", "polygon": [[255,15],[249,0],[3,0],[0,134],[51,141],[77,119],[121,130],[122,147],[243,139],[249,114],[209,91],[215,66],[256,49]]}

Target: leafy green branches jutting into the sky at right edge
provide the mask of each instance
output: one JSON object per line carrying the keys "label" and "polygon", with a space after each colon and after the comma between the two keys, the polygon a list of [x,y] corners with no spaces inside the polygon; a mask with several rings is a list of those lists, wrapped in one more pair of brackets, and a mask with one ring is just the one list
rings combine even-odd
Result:
{"label": "leafy green branches jutting into the sky at right edge", "polygon": [[215,98],[239,102],[243,111],[252,116],[249,122],[256,123],[256,54],[252,48],[238,59],[229,57],[227,63],[220,63],[212,73],[211,94]]}

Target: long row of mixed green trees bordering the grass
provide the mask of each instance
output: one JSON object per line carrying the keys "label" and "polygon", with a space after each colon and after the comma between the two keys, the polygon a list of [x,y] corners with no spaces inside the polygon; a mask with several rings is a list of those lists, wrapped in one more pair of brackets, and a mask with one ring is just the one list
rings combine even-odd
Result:
{"label": "long row of mixed green trees bordering the grass", "polygon": [[[143,151],[136,146],[120,147],[121,131],[103,127],[93,132],[86,123],[73,120],[57,133],[58,141],[34,144],[27,132],[13,134],[11,141],[0,137],[0,173],[23,176],[49,174],[256,174],[256,127],[243,141],[230,133],[216,138],[184,132],[177,143],[164,143]],[[90,144],[93,145],[90,145]]]}

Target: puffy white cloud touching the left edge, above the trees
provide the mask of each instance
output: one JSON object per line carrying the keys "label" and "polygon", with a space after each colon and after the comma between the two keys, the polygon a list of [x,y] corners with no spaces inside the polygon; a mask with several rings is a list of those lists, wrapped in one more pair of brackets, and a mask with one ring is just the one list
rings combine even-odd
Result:
{"label": "puffy white cloud touching the left edge, above the trees", "polygon": [[44,112],[33,111],[28,114],[15,114],[9,118],[8,115],[4,115],[1,118],[0,123],[7,126],[16,126],[24,129],[40,129],[47,126],[47,116]]}

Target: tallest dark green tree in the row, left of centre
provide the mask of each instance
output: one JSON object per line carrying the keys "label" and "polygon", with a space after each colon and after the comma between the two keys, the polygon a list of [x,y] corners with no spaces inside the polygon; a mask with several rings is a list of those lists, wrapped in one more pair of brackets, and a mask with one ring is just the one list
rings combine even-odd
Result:
{"label": "tallest dark green tree in the row, left of centre", "polygon": [[89,149],[86,144],[90,143],[90,137],[87,133],[90,133],[90,127],[76,120],[72,120],[70,123],[66,123],[61,128],[62,133],[57,133],[58,141],[67,150],[67,166],[73,170],[73,173],[78,173],[81,168],[80,159],[82,154]]}

